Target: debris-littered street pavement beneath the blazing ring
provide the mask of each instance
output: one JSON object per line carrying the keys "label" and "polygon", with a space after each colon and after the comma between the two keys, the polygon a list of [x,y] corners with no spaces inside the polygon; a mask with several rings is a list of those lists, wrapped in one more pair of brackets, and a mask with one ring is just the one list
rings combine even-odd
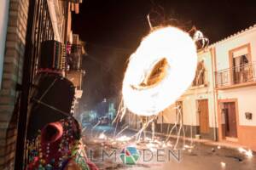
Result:
{"label": "debris-littered street pavement beneath the blazing ring", "polygon": [[[117,130],[119,131],[119,129]],[[230,169],[230,170],[253,170],[256,169],[256,157],[248,157],[245,154],[239,152],[239,150],[228,149],[218,146],[211,146],[201,143],[193,143],[194,148],[189,149],[186,142],[187,148],[180,150],[181,160],[178,162],[171,157],[166,155],[168,150],[172,150],[172,147],[168,147],[161,141],[165,141],[166,137],[156,137],[154,142],[141,142],[136,144],[134,139],[130,141],[120,141],[119,138],[123,139],[131,137],[135,132],[131,130],[125,130],[117,137],[118,139],[113,141],[114,127],[110,126],[97,126],[92,129],[90,124],[86,124],[84,135],[84,144],[86,144],[87,154],[91,161],[94,161],[100,169],[152,169],[152,170],[169,170],[169,169]],[[103,135],[104,134],[104,135]],[[148,139],[151,136],[147,135]],[[171,144],[174,144],[176,140],[172,139]],[[169,143],[169,144],[170,144]],[[183,144],[180,141],[179,144]],[[140,158],[135,165],[125,165],[119,159],[119,152],[127,145],[135,145],[140,150]],[[116,156],[104,156],[102,158],[102,150],[105,150],[109,155],[116,151]],[[152,150],[154,155],[152,156],[150,151]],[[157,150],[159,150],[159,156],[157,156]],[[165,150],[165,151],[162,151]],[[161,151],[161,152],[160,152]],[[160,156],[163,155],[163,156]],[[152,157],[152,159],[150,159]],[[144,161],[143,161],[144,160]],[[149,160],[149,161],[148,161]]]}

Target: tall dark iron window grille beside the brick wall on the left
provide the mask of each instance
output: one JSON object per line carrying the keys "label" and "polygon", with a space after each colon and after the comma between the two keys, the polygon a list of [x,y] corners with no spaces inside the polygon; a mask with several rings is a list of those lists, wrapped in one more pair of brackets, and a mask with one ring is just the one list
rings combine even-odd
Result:
{"label": "tall dark iron window grille beside the brick wall on the left", "polygon": [[[67,4],[66,1],[64,1]],[[67,8],[68,9],[68,8]],[[65,11],[67,20],[67,10]],[[27,28],[26,49],[22,76],[22,93],[20,97],[20,113],[16,144],[15,169],[26,167],[26,125],[28,121],[28,103],[35,75],[40,63],[41,44],[47,40],[55,39],[55,31],[50,18],[47,0],[30,0]]]}

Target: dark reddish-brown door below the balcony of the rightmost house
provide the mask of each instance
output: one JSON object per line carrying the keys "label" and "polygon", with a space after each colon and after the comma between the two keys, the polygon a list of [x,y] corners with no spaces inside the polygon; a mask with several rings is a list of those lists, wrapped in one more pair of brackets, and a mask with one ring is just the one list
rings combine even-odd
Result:
{"label": "dark reddish-brown door below the balcony of the rightmost house", "polygon": [[225,136],[231,138],[237,138],[236,127],[236,103],[227,102],[224,103],[224,132]]}

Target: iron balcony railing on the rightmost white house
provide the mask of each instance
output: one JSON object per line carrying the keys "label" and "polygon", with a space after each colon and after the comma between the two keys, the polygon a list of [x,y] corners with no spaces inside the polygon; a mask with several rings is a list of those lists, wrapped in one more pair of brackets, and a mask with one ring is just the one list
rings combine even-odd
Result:
{"label": "iron balcony railing on the rightmost white house", "polygon": [[218,88],[245,82],[256,82],[256,62],[216,72],[216,87]]}

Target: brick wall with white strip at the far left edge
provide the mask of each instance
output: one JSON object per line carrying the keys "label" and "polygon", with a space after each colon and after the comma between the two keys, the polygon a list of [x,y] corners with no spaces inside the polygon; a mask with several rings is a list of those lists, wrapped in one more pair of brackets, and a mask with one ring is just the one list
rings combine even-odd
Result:
{"label": "brick wall with white strip at the far left edge", "polygon": [[15,103],[26,46],[28,0],[0,2],[0,169],[13,169],[17,137]]}

